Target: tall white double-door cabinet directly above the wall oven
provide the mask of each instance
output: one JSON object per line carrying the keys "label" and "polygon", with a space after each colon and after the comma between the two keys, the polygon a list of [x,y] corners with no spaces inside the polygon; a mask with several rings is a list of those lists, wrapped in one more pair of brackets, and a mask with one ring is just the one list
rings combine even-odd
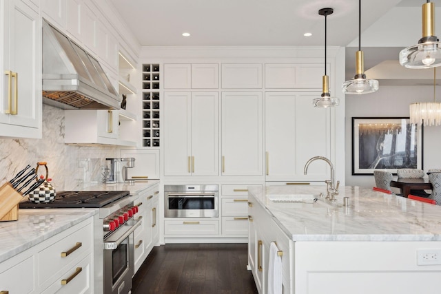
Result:
{"label": "tall white double-door cabinet directly above the wall oven", "polygon": [[165,176],[218,175],[218,93],[165,92]]}

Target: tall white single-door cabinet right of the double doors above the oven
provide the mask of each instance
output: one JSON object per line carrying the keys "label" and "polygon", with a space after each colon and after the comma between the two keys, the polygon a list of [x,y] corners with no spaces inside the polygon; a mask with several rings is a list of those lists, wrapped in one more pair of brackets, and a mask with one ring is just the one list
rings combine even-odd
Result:
{"label": "tall white single-door cabinet right of the double doors above the oven", "polygon": [[222,176],[262,176],[262,92],[222,93]]}

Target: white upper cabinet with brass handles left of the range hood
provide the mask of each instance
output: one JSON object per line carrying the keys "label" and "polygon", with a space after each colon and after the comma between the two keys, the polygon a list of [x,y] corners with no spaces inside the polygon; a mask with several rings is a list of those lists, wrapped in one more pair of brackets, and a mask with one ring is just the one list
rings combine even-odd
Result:
{"label": "white upper cabinet with brass handles left of the range hood", "polygon": [[41,138],[41,19],[21,0],[0,11],[0,136]]}

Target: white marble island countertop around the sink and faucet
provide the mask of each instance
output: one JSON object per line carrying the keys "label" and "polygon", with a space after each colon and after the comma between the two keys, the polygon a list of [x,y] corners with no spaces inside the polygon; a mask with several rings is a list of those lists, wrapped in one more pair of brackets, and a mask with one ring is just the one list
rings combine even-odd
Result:
{"label": "white marble island countertop around the sink and faucet", "polygon": [[[336,202],[326,186],[249,187],[294,241],[441,241],[441,207],[361,187],[340,187]],[[269,198],[314,194],[314,203]],[[343,206],[343,198],[349,206]]]}

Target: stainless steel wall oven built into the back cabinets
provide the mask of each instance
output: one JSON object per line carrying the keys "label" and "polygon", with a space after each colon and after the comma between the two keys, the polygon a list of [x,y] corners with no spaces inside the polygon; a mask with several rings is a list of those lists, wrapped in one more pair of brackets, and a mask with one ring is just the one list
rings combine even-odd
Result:
{"label": "stainless steel wall oven built into the back cabinets", "polygon": [[217,218],[218,185],[165,185],[165,218]]}

